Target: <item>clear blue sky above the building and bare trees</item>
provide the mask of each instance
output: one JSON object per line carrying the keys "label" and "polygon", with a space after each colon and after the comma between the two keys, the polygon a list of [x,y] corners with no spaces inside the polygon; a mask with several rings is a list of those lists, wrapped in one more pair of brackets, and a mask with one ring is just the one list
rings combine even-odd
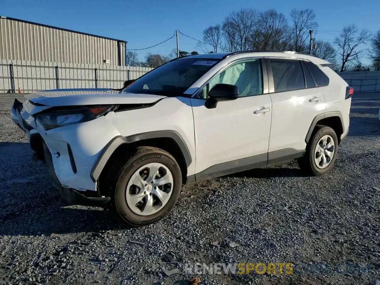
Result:
{"label": "clear blue sky above the building and bare trees", "polygon": [[[316,40],[332,43],[345,25],[356,24],[370,31],[380,29],[380,1],[357,0],[2,0],[1,16],[53,25],[80,32],[93,33],[128,41],[129,49],[157,44],[174,34],[182,33],[202,40],[202,31],[215,25],[240,8],[265,10],[274,8],[288,17],[291,9],[312,8],[319,27]],[[184,51],[198,51],[197,42],[180,35],[179,46]],[[169,54],[176,48],[175,37],[157,47],[139,51],[139,60],[147,52]],[[367,62],[364,60],[364,62]]]}

